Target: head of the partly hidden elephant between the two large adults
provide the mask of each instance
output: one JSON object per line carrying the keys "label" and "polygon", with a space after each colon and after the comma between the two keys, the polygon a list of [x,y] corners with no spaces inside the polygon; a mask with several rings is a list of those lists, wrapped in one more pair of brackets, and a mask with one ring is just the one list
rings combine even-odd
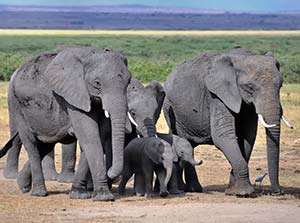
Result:
{"label": "head of the partly hidden elephant between the two large adults", "polygon": [[143,137],[151,137],[156,134],[157,122],[165,92],[157,81],[144,87],[135,78],[132,78],[127,88],[127,101],[129,118],[135,125],[137,133]]}

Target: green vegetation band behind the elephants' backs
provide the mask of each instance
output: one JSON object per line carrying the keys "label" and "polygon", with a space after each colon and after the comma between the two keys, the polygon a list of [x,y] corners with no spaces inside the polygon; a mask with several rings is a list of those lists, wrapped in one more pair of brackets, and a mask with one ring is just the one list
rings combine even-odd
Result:
{"label": "green vegetation band behind the elephants' backs", "polygon": [[203,51],[242,46],[257,53],[272,51],[285,83],[300,83],[300,36],[0,36],[0,80],[31,56],[59,45],[109,47],[123,52],[140,80],[164,81],[174,66]]}

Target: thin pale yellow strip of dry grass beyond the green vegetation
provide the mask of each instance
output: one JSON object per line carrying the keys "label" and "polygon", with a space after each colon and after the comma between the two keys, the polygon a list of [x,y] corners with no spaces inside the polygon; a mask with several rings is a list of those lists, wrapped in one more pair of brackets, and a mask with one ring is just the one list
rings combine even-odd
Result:
{"label": "thin pale yellow strip of dry grass beyond the green vegetation", "polygon": [[0,29],[0,35],[300,36],[300,30],[45,30]]}

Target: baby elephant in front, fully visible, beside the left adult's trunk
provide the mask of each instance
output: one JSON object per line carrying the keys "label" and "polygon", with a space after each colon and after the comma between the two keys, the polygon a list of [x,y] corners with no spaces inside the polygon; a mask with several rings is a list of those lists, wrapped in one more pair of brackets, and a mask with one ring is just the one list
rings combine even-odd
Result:
{"label": "baby elephant in front, fully visible, beside the left adult's trunk", "polygon": [[124,168],[119,193],[124,193],[128,179],[136,174],[142,178],[145,197],[151,197],[154,171],[160,184],[160,196],[168,196],[167,185],[172,175],[173,162],[177,162],[177,159],[171,145],[163,139],[156,137],[133,139],[124,150]]}

